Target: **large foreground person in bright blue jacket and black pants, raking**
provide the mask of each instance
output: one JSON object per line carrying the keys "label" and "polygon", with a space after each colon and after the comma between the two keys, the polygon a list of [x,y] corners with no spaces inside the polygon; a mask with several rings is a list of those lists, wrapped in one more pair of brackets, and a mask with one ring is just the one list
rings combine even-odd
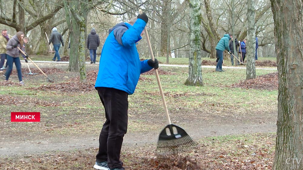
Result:
{"label": "large foreground person in bright blue jacket and black pants, raking", "polygon": [[115,25],[103,45],[95,89],[105,108],[106,121],[99,136],[95,169],[124,170],[120,152],[127,131],[128,95],[134,93],[141,73],[158,69],[157,59],[140,61],[136,48],[147,22],[143,13]]}

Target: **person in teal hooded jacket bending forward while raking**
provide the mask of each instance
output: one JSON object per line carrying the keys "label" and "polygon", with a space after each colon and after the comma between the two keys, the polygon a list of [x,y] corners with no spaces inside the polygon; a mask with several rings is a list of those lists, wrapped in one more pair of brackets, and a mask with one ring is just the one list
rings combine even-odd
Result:
{"label": "person in teal hooded jacket bending forward while raking", "polygon": [[227,50],[228,53],[231,54],[231,51],[229,49],[229,40],[231,40],[231,38],[232,38],[231,34],[225,34],[216,46],[216,51],[217,51],[216,56],[219,59],[218,63],[217,63],[217,66],[216,66],[216,71],[217,72],[224,72],[224,70],[222,70],[223,51]]}

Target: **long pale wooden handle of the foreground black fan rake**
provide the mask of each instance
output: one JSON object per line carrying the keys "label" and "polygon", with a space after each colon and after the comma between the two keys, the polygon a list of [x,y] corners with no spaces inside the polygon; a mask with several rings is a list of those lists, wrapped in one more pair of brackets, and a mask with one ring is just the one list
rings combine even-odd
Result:
{"label": "long pale wooden handle of the foreground black fan rake", "polygon": [[[143,14],[141,9],[139,9],[139,14]],[[151,59],[153,61],[155,61],[154,53],[152,52],[152,49],[151,49],[151,42],[149,41],[149,37],[148,37],[146,27],[144,27],[144,33],[145,33],[145,36],[146,36],[149,53],[151,54]],[[161,94],[161,98],[162,98],[162,102],[163,102],[167,122],[168,122],[168,124],[171,124],[171,120],[170,120],[170,117],[169,117],[169,114],[168,114],[168,109],[167,109],[167,106],[166,106],[166,101],[165,101],[165,98],[164,98],[164,94],[163,94],[163,90],[162,90],[162,86],[161,86],[161,82],[160,82],[160,77],[159,77],[159,74],[158,74],[158,69],[154,69],[154,70],[155,70],[155,74],[156,74],[156,78],[157,78],[157,82],[158,82],[158,86],[159,86],[159,90],[160,90],[160,94]]]}

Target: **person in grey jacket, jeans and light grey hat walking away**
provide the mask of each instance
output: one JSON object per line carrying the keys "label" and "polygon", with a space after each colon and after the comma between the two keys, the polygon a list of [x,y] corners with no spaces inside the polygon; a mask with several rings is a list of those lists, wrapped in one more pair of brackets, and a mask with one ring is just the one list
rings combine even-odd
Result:
{"label": "person in grey jacket, jeans and light grey hat walking away", "polygon": [[62,43],[62,47],[64,46],[64,42],[63,42],[63,39],[62,39],[62,35],[57,31],[56,27],[54,27],[52,29],[52,34],[49,37],[48,42],[49,42],[48,45],[53,43],[54,50],[55,50],[55,56],[52,60],[56,61],[56,58],[57,58],[57,61],[61,61],[60,55],[59,55],[59,49],[61,47],[61,43]]}

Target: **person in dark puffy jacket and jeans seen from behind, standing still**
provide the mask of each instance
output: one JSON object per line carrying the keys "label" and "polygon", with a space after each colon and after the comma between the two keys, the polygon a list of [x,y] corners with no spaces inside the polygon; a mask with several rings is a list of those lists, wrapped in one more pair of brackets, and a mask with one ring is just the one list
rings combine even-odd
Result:
{"label": "person in dark puffy jacket and jeans seen from behind, standing still", "polygon": [[99,39],[98,34],[96,34],[95,28],[92,28],[91,33],[88,34],[86,44],[87,44],[87,48],[89,50],[91,64],[96,63],[96,57],[97,57],[96,52],[100,45],[100,39]]}

